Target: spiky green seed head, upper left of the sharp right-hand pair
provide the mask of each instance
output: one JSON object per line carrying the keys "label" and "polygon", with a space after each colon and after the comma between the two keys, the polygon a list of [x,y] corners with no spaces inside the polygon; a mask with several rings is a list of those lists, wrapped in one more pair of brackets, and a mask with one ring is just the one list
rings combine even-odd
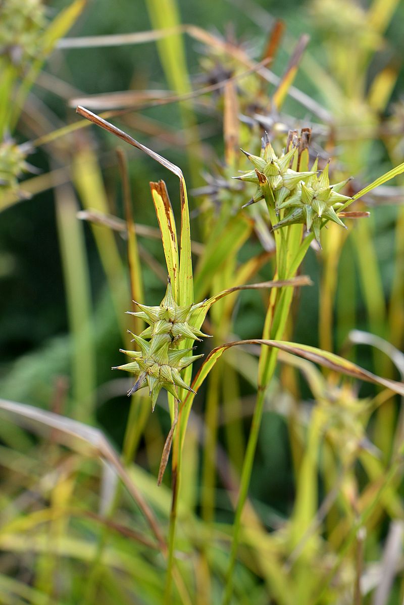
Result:
{"label": "spiky green seed head, upper left of the sharp right-hand pair", "polygon": [[273,151],[267,133],[262,137],[260,157],[246,151],[243,151],[243,153],[247,155],[255,169],[233,178],[250,181],[250,183],[258,185],[255,194],[246,205],[262,200],[267,189],[273,200],[274,207],[278,211],[279,204],[289,197],[299,181],[304,181],[315,174],[313,171],[296,172],[292,168],[289,168],[290,163],[293,162],[295,155],[298,153],[298,148],[294,147],[284,155],[281,155],[281,157],[278,157],[275,151]]}

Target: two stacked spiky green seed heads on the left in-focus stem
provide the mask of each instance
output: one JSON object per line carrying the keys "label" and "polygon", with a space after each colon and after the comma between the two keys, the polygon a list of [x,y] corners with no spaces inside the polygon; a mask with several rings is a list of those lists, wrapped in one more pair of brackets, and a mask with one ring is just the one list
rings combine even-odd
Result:
{"label": "two stacked spiky green seed heads on the left in-focus stem", "polygon": [[[136,304],[141,311],[128,312],[129,315],[144,319],[149,327],[143,330],[140,336],[129,332],[140,351],[120,349],[132,361],[112,369],[125,370],[135,374],[137,381],[129,390],[128,395],[147,386],[154,410],[161,388],[165,388],[176,399],[178,399],[178,393],[175,387],[192,391],[192,388],[181,378],[180,372],[203,355],[187,356],[192,348],[178,349],[177,344],[186,338],[195,341],[200,340],[200,336],[207,336],[192,325],[192,313],[203,303],[180,307],[174,299],[171,282],[168,280],[166,294],[160,306],[148,307]],[[149,342],[145,338],[149,338]]]}

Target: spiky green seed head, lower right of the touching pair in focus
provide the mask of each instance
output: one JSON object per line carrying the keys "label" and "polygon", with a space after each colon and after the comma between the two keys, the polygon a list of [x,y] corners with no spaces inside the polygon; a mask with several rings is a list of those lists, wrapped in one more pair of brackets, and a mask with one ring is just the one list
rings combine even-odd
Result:
{"label": "spiky green seed head, lower right of the touching pair in focus", "polygon": [[287,214],[279,223],[273,225],[273,229],[293,223],[303,223],[307,232],[313,231],[314,237],[320,244],[320,230],[324,221],[330,220],[347,228],[337,216],[335,209],[340,208],[345,201],[351,199],[347,195],[339,193],[350,179],[347,178],[340,183],[330,185],[328,166],[329,162],[318,175],[316,173],[318,160],[314,161],[311,168],[313,174],[305,182],[300,181],[293,194],[278,204],[278,212],[284,208]]}

